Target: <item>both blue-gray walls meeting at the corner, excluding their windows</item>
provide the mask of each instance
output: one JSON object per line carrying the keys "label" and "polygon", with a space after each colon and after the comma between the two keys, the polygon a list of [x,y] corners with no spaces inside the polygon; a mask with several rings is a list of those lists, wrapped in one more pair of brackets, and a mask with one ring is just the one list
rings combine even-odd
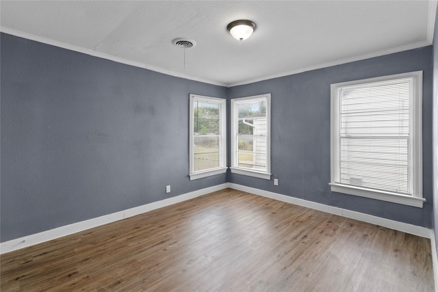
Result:
{"label": "both blue-gray walls meeting at the corner, excluding their windows", "polygon": [[[432,47],[228,89],[7,34],[0,53],[1,242],[227,181],[432,224]],[[330,84],[413,70],[424,70],[428,202],[417,209],[332,193]],[[229,173],[189,181],[190,93],[229,99],[272,93],[278,187]],[[165,194],[169,184],[172,193]]]}

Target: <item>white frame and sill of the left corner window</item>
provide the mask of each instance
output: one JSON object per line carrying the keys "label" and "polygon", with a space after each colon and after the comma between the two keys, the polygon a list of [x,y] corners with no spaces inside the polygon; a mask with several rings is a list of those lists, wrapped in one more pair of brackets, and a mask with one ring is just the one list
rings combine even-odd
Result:
{"label": "white frame and sill of the left corner window", "polygon": [[[219,167],[194,171],[194,102],[204,101],[219,105]],[[190,181],[227,172],[227,100],[210,96],[190,94]]]}

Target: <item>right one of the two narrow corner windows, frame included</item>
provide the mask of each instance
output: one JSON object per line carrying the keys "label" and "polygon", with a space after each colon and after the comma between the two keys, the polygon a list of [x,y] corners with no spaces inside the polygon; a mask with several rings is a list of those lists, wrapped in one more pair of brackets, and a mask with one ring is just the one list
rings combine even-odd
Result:
{"label": "right one of the two narrow corner windows, frame included", "polygon": [[270,94],[231,101],[231,172],[270,179]]}

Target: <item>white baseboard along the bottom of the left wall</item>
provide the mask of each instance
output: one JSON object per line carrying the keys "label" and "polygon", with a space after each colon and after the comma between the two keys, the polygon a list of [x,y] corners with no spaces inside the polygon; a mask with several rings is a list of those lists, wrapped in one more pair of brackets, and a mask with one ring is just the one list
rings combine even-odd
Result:
{"label": "white baseboard along the bottom of the left wall", "polygon": [[165,200],[151,202],[149,204],[144,204],[139,207],[126,209],[116,213],[103,215],[101,217],[92,218],[90,220],[85,220],[85,221],[69,224],[66,226],[53,228],[51,230],[43,231],[41,233],[35,233],[33,235],[27,235],[25,237],[12,239],[10,241],[5,241],[0,243],[0,254],[5,254],[6,252],[12,252],[14,250],[19,250],[21,248],[27,248],[28,246],[31,245],[36,245],[44,241],[49,241],[52,239],[57,239],[59,237],[64,237],[66,235],[71,235],[73,233],[78,233],[80,231],[101,226],[103,224],[108,224],[118,220],[123,220],[127,217],[132,217],[135,215],[139,215],[141,213],[166,207],[171,204],[176,204],[179,202],[183,202],[185,200],[190,200],[198,196],[203,196],[213,191],[220,191],[221,189],[226,189],[227,187],[228,187],[227,183],[223,183],[222,185],[215,185],[213,187],[206,187],[205,189],[198,189],[197,191],[191,191],[190,193],[182,194],[172,198],[167,198]]}

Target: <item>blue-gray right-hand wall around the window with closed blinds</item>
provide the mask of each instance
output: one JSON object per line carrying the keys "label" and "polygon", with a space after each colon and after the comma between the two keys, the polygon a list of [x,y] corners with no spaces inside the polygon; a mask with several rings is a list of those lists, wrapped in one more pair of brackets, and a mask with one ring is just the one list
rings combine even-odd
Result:
{"label": "blue-gray right-hand wall around the window with closed blinds", "polygon": [[[422,209],[331,192],[331,83],[423,70]],[[430,227],[432,225],[432,47],[365,59],[296,75],[229,88],[238,98],[271,93],[273,180],[230,174],[229,181],[266,191]]]}

